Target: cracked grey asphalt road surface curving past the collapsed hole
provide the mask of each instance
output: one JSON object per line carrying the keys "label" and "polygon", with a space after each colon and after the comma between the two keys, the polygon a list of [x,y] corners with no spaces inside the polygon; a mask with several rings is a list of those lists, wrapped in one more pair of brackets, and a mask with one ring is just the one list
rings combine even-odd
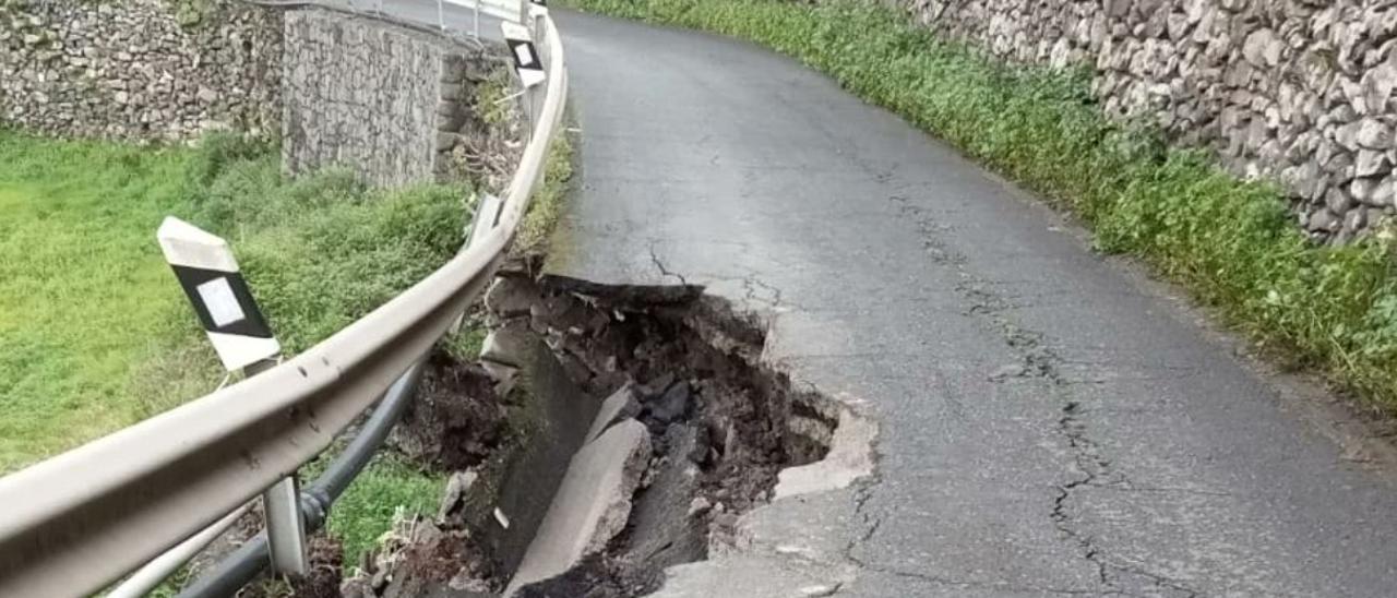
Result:
{"label": "cracked grey asphalt road surface curving past the collapsed hole", "polygon": [[753,513],[662,595],[1397,591],[1387,447],[1323,394],[791,60],[555,13],[583,129],[555,268],[773,313],[770,358],[880,426],[875,478]]}

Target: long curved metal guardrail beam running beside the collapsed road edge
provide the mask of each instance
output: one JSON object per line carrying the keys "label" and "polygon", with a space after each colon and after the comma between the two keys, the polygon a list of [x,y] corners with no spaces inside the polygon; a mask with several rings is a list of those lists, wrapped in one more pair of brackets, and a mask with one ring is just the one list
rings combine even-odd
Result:
{"label": "long curved metal guardrail beam running beside the collapsed road edge", "polygon": [[493,277],[562,126],[563,48],[549,17],[535,22],[548,78],[497,225],[293,359],[0,478],[0,597],[108,587],[314,458],[430,351]]}

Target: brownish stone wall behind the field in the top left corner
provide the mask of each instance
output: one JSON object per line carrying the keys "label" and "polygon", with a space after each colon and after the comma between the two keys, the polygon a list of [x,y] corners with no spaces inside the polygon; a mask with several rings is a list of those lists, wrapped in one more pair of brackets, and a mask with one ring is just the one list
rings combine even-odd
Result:
{"label": "brownish stone wall behind the field in the top left corner", "polygon": [[235,0],[0,0],[0,124],[74,137],[274,136],[281,13]]}

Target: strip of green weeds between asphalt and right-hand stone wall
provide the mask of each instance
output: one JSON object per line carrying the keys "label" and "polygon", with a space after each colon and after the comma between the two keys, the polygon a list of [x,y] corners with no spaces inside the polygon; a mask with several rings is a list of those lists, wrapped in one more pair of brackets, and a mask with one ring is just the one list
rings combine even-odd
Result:
{"label": "strip of green weeds between asphalt and right-hand stone wall", "polygon": [[1309,243],[1275,187],[1105,119],[1088,71],[1006,66],[872,1],[569,3],[746,38],[824,71],[1074,211],[1099,249],[1144,258],[1273,355],[1397,408],[1391,226],[1345,247]]}

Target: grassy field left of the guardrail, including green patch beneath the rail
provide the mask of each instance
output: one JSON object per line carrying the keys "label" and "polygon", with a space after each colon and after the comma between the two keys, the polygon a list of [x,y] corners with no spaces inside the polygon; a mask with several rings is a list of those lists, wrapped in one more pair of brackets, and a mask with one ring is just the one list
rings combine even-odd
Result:
{"label": "grassy field left of the guardrail, including green patch beneath the rail", "polygon": [[[212,390],[222,372],[155,243],[177,215],[226,236],[289,352],[326,338],[450,258],[460,186],[365,189],[279,175],[274,148],[198,150],[0,133],[0,471]],[[377,458],[330,532],[351,557],[395,511],[433,513],[444,475]]]}

